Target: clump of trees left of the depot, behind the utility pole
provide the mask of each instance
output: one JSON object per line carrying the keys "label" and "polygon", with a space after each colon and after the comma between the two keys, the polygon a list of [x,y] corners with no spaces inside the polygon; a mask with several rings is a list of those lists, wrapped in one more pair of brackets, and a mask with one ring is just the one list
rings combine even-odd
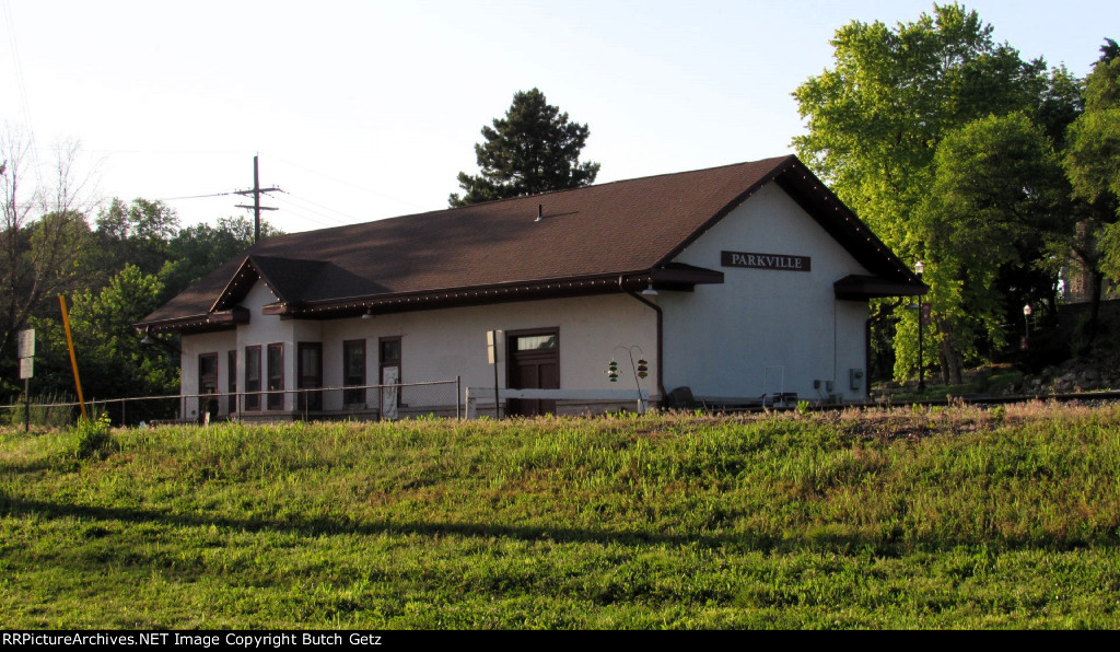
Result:
{"label": "clump of trees left of the depot, behind the utility pole", "polygon": [[[175,392],[178,356],[141,346],[132,324],[252,244],[245,217],[179,229],[167,205],[112,199],[91,230],[72,178],[75,150],[63,148],[58,177],[28,184],[29,140],[0,141],[0,403],[11,382],[17,330],[36,329],[32,393],[73,393],[69,352],[56,295],[71,305],[75,348],[87,395],[119,398]],[[264,233],[279,233],[268,224]]]}

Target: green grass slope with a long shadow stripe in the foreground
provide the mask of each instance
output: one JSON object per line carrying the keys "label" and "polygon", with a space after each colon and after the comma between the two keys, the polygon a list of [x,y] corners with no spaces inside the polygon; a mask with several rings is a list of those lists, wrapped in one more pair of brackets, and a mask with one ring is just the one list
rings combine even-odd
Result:
{"label": "green grass slope with a long shadow stripe in the foreground", "polygon": [[1120,407],[0,435],[6,628],[1120,627]]}

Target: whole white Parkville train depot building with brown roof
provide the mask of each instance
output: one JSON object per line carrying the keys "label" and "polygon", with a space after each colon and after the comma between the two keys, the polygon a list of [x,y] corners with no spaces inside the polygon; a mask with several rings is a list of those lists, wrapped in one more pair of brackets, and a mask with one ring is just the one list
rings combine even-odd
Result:
{"label": "whole white Parkville train depot building with brown roof", "polygon": [[510,413],[631,389],[851,402],[868,301],[924,291],[791,156],[269,237],[137,328],[181,335],[185,418],[451,415],[461,397],[370,388],[456,378],[562,390]]}

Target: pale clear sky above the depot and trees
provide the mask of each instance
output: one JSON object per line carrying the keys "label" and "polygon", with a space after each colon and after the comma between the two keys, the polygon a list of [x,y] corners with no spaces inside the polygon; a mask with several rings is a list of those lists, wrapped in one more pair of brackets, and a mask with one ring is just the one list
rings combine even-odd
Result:
{"label": "pale clear sky above the depot and trees", "polygon": [[[598,181],[792,152],[790,93],[852,20],[925,0],[0,0],[0,121],[40,166],[82,146],[92,199],[165,199],[184,225],[244,214],[260,155],[288,232],[447,206],[479,130],[539,87],[587,123]],[[1025,58],[1085,75],[1116,0],[974,0]],[[96,212],[94,208],[93,213]],[[91,215],[92,217],[92,215]]]}

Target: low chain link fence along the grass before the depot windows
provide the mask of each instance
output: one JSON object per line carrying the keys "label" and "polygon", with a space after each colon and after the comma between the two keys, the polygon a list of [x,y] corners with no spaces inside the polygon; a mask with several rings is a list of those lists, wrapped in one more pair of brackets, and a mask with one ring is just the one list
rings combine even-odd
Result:
{"label": "low chain link fence along the grass before the depot windows", "polygon": [[[419,383],[304,388],[94,399],[91,416],[105,413],[114,426],[208,423],[215,421],[340,420],[381,421],[463,416],[459,379]],[[34,401],[0,406],[0,425],[62,428],[81,416],[77,401]]]}

